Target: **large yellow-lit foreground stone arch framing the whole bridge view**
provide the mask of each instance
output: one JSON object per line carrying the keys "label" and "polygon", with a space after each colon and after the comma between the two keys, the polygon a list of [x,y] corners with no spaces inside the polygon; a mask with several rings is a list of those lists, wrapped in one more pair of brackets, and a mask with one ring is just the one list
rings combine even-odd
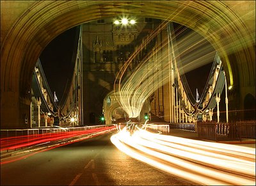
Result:
{"label": "large yellow-lit foreground stone arch framing the whole bridge view", "polygon": [[24,114],[29,116],[33,68],[53,38],[84,22],[124,13],[169,20],[195,30],[219,52],[234,91],[244,86],[255,89],[255,41],[238,11],[227,2],[29,1],[15,16],[9,15],[10,3],[17,2],[1,1],[5,11],[1,11],[1,128],[28,127],[20,123]]}

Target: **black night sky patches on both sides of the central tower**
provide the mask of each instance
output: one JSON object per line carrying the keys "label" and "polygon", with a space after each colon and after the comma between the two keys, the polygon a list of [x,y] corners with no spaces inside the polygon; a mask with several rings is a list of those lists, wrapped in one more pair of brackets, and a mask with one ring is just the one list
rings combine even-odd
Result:
{"label": "black night sky patches on both sides of the central tower", "polygon": [[[176,25],[177,26],[177,25]],[[189,29],[188,29],[189,31]],[[68,79],[72,76],[72,54],[76,48],[75,41],[76,27],[65,31],[61,35],[52,40],[40,56],[42,66],[44,68],[45,77],[51,88],[52,95],[56,91],[56,96],[60,103],[65,91]],[[212,58],[213,61],[214,58]],[[201,96],[204,91],[206,81],[211,70],[212,63],[196,68],[186,73],[191,92],[196,98],[196,88]]]}

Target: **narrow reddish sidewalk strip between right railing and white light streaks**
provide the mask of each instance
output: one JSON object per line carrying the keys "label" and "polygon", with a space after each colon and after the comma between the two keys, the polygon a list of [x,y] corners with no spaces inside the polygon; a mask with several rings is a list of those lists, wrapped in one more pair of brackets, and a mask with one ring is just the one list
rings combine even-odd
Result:
{"label": "narrow reddish sidewalk strip between right railing and white light streaks", "polygon": [[[210,141],[210,140],[206,140],[206,139],[200,139],[196,132],[189,132],[189,131],[180,130],[180,129],[170,129],[169,135],[177,136],[177,137],[185,137],[185,138],[189,138],[189,139]],[[255,148],[255,139],[242,138],[241,141],[211,141],[211,142],[236,144],[236,145],[239,145],[239,146],[247,146],[247,147],[250,147],[250,148]]]}

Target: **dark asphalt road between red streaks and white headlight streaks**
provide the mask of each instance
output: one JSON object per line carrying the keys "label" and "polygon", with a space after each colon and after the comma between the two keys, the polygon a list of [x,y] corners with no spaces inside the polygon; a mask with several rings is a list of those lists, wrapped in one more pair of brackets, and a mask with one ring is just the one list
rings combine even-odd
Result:
{"label": "dark asphalt road between red streaks and white headlight streaks", "polygon": [[113,134],[22,154],[1,164],[1,185],[196,185],[132,159],[111,143]]}

